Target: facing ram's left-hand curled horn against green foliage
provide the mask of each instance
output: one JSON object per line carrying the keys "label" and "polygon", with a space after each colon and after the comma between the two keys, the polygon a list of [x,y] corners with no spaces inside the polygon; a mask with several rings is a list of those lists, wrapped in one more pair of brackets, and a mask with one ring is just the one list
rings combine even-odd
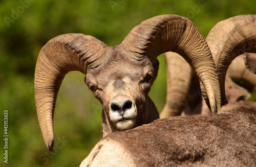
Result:
{"label": "facing ram's left-hand curled horn against green foliage", "polygon": [[92,36],[65,34],[42,47],[35,67],[35,102],[42,136],[53,151],[53,114],[59,87],[69,71],[86,74],[105,57],[107,46]]}

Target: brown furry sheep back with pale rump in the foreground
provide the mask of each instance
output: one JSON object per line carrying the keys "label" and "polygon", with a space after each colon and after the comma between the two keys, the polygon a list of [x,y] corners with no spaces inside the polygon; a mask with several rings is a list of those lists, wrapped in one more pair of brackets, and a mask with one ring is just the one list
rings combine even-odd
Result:
{"label": "brown furry sheep back with pale rump in the foreground", "polygon": [[80,166],[255,166],[256,104],[170,117],[104,137]]}

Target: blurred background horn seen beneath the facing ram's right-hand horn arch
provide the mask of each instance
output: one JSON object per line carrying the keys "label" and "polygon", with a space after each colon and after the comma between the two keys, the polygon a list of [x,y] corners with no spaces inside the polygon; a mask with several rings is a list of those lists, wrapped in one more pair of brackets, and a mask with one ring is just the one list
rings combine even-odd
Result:
{"label": "blurred background horn seen beneath the facing ram's right-hand horn arch", "polygon": [[[166,103],[160,118],[180,116],[189,93],[194,71],[184,59],[175,52],[166,52],[167,94]],[[182,76],[181,76],[182,75]]]}

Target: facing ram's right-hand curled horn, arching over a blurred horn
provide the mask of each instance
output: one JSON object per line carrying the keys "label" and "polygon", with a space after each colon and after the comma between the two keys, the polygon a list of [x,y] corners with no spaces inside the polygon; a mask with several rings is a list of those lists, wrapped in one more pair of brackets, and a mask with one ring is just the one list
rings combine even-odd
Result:
{"label": "facing ram's right-hand curled horn, arching over a blurred horn", "polygon": [[[154,62],[158,55],[173,51],[193,67],[208,96],[210,110],[220,106],[220,86],[210,49],[196,25],[177,15],[160,15],[147,19],[125,37],[121,46],[137,60],[147,56]],[[204,96],[207,100],[207,96]]]}

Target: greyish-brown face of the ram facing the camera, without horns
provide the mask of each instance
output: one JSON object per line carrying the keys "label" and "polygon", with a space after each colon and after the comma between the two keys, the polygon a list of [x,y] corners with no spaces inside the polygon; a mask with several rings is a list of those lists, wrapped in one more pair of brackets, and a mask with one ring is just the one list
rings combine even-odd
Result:
{"label": "greyish-brown face of the ram facing the camera, without horns", "polygon": [[157,71],[157,61],[137,61],[113,51],[100,66],[88,69],[86,84],[103,105],[106,119],[117,130],[131,129],[148,118],[147,94]]}

